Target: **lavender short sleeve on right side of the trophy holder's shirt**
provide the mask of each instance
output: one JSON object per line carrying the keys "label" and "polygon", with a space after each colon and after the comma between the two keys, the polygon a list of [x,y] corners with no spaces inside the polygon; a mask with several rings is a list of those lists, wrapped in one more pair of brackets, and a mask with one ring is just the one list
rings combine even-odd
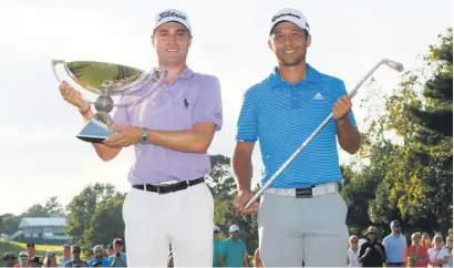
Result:
{"label": "lavender short sleeve on right side of the trophy holder's shirt", "polygon": [[219,80],[208,76],[200,89],[193,110],[193,124],[209,122],[216,124],[216,131],[223,127],[223,99]]}

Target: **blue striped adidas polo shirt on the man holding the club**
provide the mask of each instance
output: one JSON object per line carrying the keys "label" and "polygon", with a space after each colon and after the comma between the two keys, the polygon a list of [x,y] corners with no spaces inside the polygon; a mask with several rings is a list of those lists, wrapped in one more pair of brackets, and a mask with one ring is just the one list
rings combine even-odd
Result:
{"label": "blue striped adidas polo shirt on the man holding the club", "polygon": [[[237,123],[238,142],[259,141],[265,184],[301,143],[332,112],[336,101],[347,95],[342,80],[318,72],[307,64],[307,75],[297,84],[283,81],[275,68],[267,79],[244,94]],[[353,113],[349,113],[353,125]],[[290,163],[270,188],[295,188],[340,182],[337,125],[331,120]]]}

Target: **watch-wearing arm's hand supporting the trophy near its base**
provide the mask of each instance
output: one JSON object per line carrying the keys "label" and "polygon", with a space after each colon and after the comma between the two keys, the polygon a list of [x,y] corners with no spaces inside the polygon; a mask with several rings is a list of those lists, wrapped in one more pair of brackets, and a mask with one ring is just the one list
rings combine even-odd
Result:
{"label": "watch-wearing arm's hand supporting the trophy near its base", "polygon": [[142,135],[142,128],[131,125],[114,125],[115,135],[104,141],[109,147],[128,147],[138,143]]}

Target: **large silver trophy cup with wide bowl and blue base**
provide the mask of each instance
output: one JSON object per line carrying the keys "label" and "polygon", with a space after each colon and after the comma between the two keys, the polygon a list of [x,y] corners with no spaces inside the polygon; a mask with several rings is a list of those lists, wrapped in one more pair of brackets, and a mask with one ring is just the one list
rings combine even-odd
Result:
{"label": "large silver trophy cup with wide bowl and blue base", "polygon": [[[144,72],[136,68],[107,62],[65,62],[63,60],[52,60],[51,62],[53,74],[60,83],[62,80],[55,70],[58,64],[64,66],[65,72],[75,83],[97,95],[95,101],[83,97],[83,101],[94,105],[96,110],[94,117],[89,120],[76,135],[78,138],[89,143],[102,143],[114,134],[112,127],[114,122],[110,115],[113,107],[136,105],[154,93],[167,76],[166,70],[157,68]],[[120,96],[117,103],[114,102],[113,96]]]}

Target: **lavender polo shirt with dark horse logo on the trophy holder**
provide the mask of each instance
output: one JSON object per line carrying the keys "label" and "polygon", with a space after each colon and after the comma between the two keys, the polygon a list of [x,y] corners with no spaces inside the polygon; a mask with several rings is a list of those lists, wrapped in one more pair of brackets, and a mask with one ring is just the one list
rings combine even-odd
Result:
{"label": "lavender polo shirt with dark horse logo on the trophy holder", "polygon": [[[137,95],[149,90],[146,84]],[[223,103],[217,78],[193,72],[188,66],[171,84],[162,84],[136,105],[117,107],[117,125],[133,125],[155,131],[185,131],[195,123],[210,122],[220,131]],[[134,145],[135,161],[128,174],[131,184],[158,184],[190,181],[208,175],[208,154],[183,153],[153,144]]]}

